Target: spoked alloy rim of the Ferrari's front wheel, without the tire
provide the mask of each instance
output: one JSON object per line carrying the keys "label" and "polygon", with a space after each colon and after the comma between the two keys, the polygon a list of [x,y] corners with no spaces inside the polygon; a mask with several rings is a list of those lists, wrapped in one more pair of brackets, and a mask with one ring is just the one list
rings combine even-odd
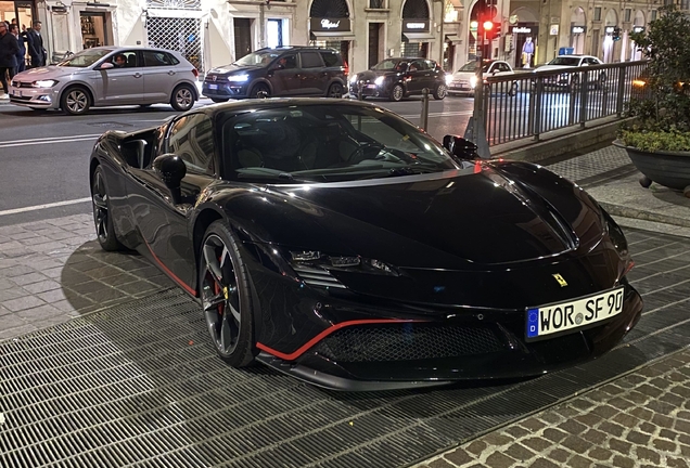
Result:
{"label": "spoked alloy rim of the Ferrari's front wheel, without the tire", "polygon": [[216,234],[204,240],[202,304],[206,325],[218,352],[231,354],[238,346],[240,327],[240,291],[230,251]]}

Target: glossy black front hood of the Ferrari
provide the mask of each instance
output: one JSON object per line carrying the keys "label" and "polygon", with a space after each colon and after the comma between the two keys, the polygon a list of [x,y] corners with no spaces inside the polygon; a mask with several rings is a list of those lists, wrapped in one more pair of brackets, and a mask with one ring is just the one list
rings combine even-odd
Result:
{"label": "glossy black front hood of the Ferrari", "polygon": [[241,209],[235,219],[251,218],[245,230],[257,242],[409,268],[473,270],[554,259],[596,240],[580,238],[602,230],[584,192],[545,169],[534,171],[547,173],[538,191],[485,166],[478,173],[271,185],[254,203],[226,209]]}

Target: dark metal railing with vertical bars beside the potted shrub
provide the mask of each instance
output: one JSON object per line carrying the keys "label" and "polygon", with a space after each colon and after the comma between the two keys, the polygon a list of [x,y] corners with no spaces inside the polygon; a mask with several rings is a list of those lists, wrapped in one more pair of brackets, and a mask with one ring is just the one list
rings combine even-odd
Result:
{"label": "dark metal railing with vertical bars beside the potted shrub", "polygon": [[488,76],[483,115],[489,145],[532,138],[609,116],[621,117],[647,62]]}

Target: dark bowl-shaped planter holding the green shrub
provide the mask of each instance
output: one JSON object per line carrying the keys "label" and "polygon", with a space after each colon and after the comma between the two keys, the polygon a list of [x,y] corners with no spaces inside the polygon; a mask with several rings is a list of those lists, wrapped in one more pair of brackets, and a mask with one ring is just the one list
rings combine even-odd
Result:
{"label": "dark bowl-shaped planter holding the green shrub", "polygon": [[635,167],[653,182],[678,191],[690,186],[690,152],[649,153],[619,140],[613,145],[624,148]]}

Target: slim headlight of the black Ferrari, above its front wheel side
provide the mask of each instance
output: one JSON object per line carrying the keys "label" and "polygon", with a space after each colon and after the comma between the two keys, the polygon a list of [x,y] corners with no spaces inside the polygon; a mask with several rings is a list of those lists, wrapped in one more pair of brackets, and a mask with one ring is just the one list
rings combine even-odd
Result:
{"label": "slim headlight of the black Ferrari, above its front wheel side", "polygon": [[331,256],[318,250],[291,250],[290,261],[299,274],[301,266],[399,276],[397,269],[386,262],[359,256]]}

